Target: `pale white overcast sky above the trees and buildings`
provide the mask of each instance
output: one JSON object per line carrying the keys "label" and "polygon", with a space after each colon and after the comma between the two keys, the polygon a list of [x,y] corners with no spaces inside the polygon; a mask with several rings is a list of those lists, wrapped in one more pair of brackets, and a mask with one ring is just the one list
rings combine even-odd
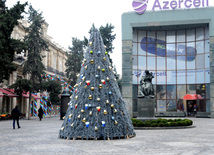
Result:
{"label": "pale white overcast sky above the trees and buildings", "polygon": [[[27,0],[20,0],[21,3]],[[33,8],[43,12],[43,17],[49,24],[48,35],[62,47],[72,46],[72,37],[83,40],[89,38],[89,29],[92,24],[96,28],[107,23],[115,26],[113,63],[117,72],[122,73],[122,41],[121,15],[133,11],[133,0],[28,0]],[[149,0],[149,2],[154,0]],[[163,0],[160,0],[163,1]],[[206,1],[206,0],[204,0]],[[16,4],[17,0],[7,0],[8,7]],[[214,0],[209,0],[213,5]],[[26,10],[27,11],[27,10]]]}

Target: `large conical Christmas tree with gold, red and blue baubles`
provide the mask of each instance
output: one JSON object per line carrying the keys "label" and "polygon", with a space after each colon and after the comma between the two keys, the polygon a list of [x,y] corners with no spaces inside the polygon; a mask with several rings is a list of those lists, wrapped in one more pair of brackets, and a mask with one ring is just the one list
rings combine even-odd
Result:
{"label": "large conical Christmas tree with gold, red and blue baubles", "polygon": [[120,139],[134,137],[108,53],[97,29],[89,45],[59,137],[64,139]]}

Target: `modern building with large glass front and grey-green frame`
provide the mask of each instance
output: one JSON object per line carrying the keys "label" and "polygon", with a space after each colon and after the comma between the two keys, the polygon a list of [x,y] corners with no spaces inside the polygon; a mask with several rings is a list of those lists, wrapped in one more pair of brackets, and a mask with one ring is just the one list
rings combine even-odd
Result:
{"label": "modern building with large glass front and grey-green frame", "polygon": [[207,7],[122,15],[122,93],[133,116],[149,70],[156,116],[214,117],[213,14]]}

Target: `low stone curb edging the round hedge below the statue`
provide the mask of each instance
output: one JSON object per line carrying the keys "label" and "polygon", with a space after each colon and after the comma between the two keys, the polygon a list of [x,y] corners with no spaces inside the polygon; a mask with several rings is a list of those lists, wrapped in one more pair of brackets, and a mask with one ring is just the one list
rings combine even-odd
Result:
{"label": "low stone curb edging the round hedge below the statue", "polygon": [[168,130],[168,129],[190,129],[196,126],[176,126],[176,127],[134,127],[135,130]]}

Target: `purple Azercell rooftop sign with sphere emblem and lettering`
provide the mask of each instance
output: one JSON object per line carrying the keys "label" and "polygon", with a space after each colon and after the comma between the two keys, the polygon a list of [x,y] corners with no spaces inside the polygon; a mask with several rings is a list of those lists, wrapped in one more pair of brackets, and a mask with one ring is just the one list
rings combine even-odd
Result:
{"label": "purple Azercell rooftop sign with sphere emblem and lettering", "polygon": [[209,0],[134,0],[132,2],[132,7],[138,14],[143,14],[146,10],[174,10],[208,6]]}

